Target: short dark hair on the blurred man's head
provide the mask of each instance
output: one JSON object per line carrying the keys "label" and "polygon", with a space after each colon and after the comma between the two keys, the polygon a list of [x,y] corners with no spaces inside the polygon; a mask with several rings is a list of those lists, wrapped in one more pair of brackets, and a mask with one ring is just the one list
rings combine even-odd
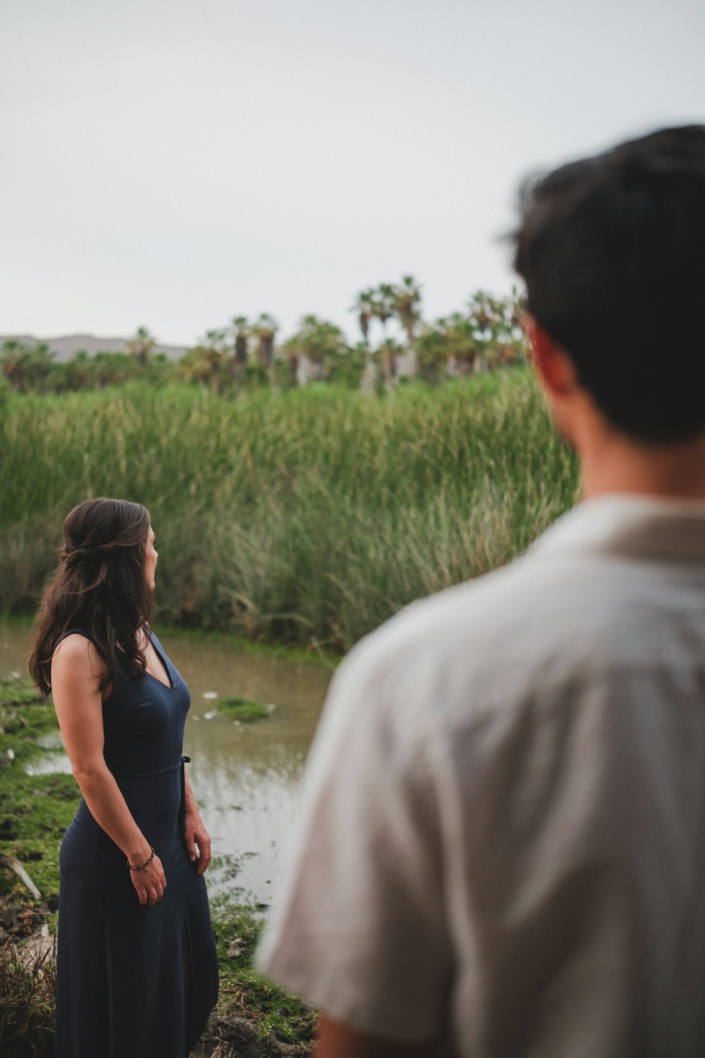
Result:
{"label": "short dark hair on the blurred man's head", "polygon": [[527,181],[514,241],[530,312],[614,427],[647,443],[705,430],[705,126]]}

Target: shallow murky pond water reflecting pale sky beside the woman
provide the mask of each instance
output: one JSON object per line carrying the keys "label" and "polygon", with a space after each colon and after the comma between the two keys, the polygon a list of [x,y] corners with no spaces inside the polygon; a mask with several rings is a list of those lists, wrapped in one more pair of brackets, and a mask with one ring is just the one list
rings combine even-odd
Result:
{"label": "shallow murky pond water reflecting pale sky beside the woman", "polygon": [[[159,628],[155,630],[159,633]],[[0,676],[24,671],[26,625],[0,623]],[[160,635],[191,690],[184,752],[214,854],[224,864],[211,891],[240,886],[268,904],[281,875],[281,852],[295,819],[299,779],[328,689],[330,672],[251,654],[218,640]],[[276,708],[266,720],[235,724],[219,716],[212,695],[242,695]],[[70,771],[60,735],[33,770]]]}

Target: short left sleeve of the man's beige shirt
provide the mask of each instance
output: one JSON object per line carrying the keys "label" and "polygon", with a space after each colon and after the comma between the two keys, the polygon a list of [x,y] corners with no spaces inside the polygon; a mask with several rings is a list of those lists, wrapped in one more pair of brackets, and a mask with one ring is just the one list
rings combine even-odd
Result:
{"label": "short left sleeve of the man's beige shirt", "polygon": [[391,674],[353,655],[329,693],[258,964],[353,1028],[420,1042],[442,1025],[450,977],[432,758]]}

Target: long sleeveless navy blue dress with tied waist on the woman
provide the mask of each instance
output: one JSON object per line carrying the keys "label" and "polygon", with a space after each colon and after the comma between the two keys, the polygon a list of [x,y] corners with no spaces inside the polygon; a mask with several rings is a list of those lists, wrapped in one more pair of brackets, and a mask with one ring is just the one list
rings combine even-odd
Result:
{"label": "long sleeveless navy blue dress with tied waist on the woman", "polygon": [[205,880],[182,837],[190,694],[151,641],[171,686],[120,672],[103,706],[104,755],[167,887],[140,904],[125,854],[81,798],[59,855],[56,1058],[185,1058],[218,996]]}

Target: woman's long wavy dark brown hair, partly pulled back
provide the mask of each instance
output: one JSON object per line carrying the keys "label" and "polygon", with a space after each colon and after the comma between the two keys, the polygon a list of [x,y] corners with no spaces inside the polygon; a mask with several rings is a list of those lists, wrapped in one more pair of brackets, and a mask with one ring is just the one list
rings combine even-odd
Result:
{"label": "woman's long wavy dark brown hair, partly pulled back", "polygon": [[145,560],[149,512],[127,499],[88,499],[63,523],[61,563],[45,589],[29,654],[32,677],[51,691],[52,654],[70,628],[93,640],[106,664],[100,688],[115,685],[119,665],[144,676],[137,631],[151,622]]}

